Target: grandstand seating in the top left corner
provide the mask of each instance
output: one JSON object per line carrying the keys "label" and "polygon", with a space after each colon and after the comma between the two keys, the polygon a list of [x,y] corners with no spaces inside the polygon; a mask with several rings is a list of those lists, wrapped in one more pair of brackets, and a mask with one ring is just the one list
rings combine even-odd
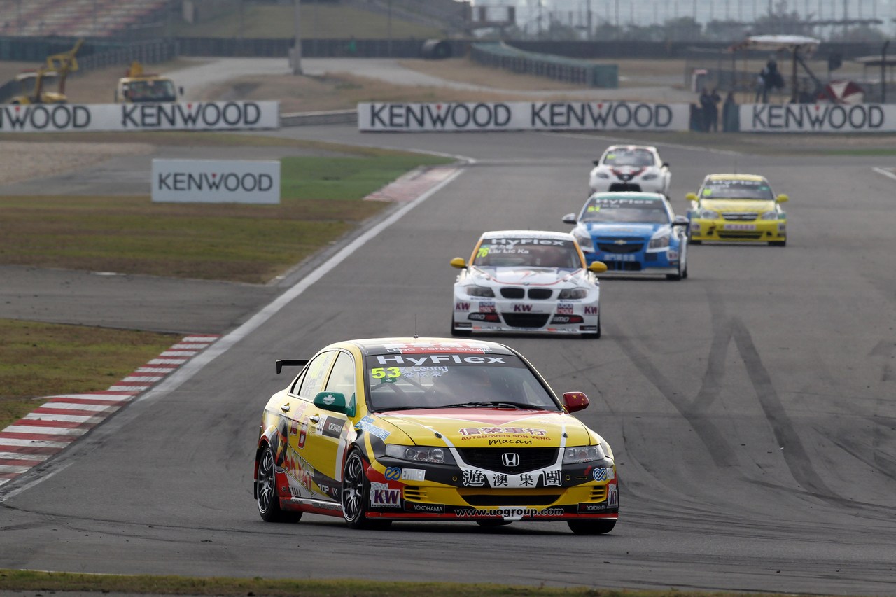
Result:
{"label": "grandstand seating in the top left corner", "polygon": [[169,0],[0,0],[0,35],[120,37],[158,23]]}

